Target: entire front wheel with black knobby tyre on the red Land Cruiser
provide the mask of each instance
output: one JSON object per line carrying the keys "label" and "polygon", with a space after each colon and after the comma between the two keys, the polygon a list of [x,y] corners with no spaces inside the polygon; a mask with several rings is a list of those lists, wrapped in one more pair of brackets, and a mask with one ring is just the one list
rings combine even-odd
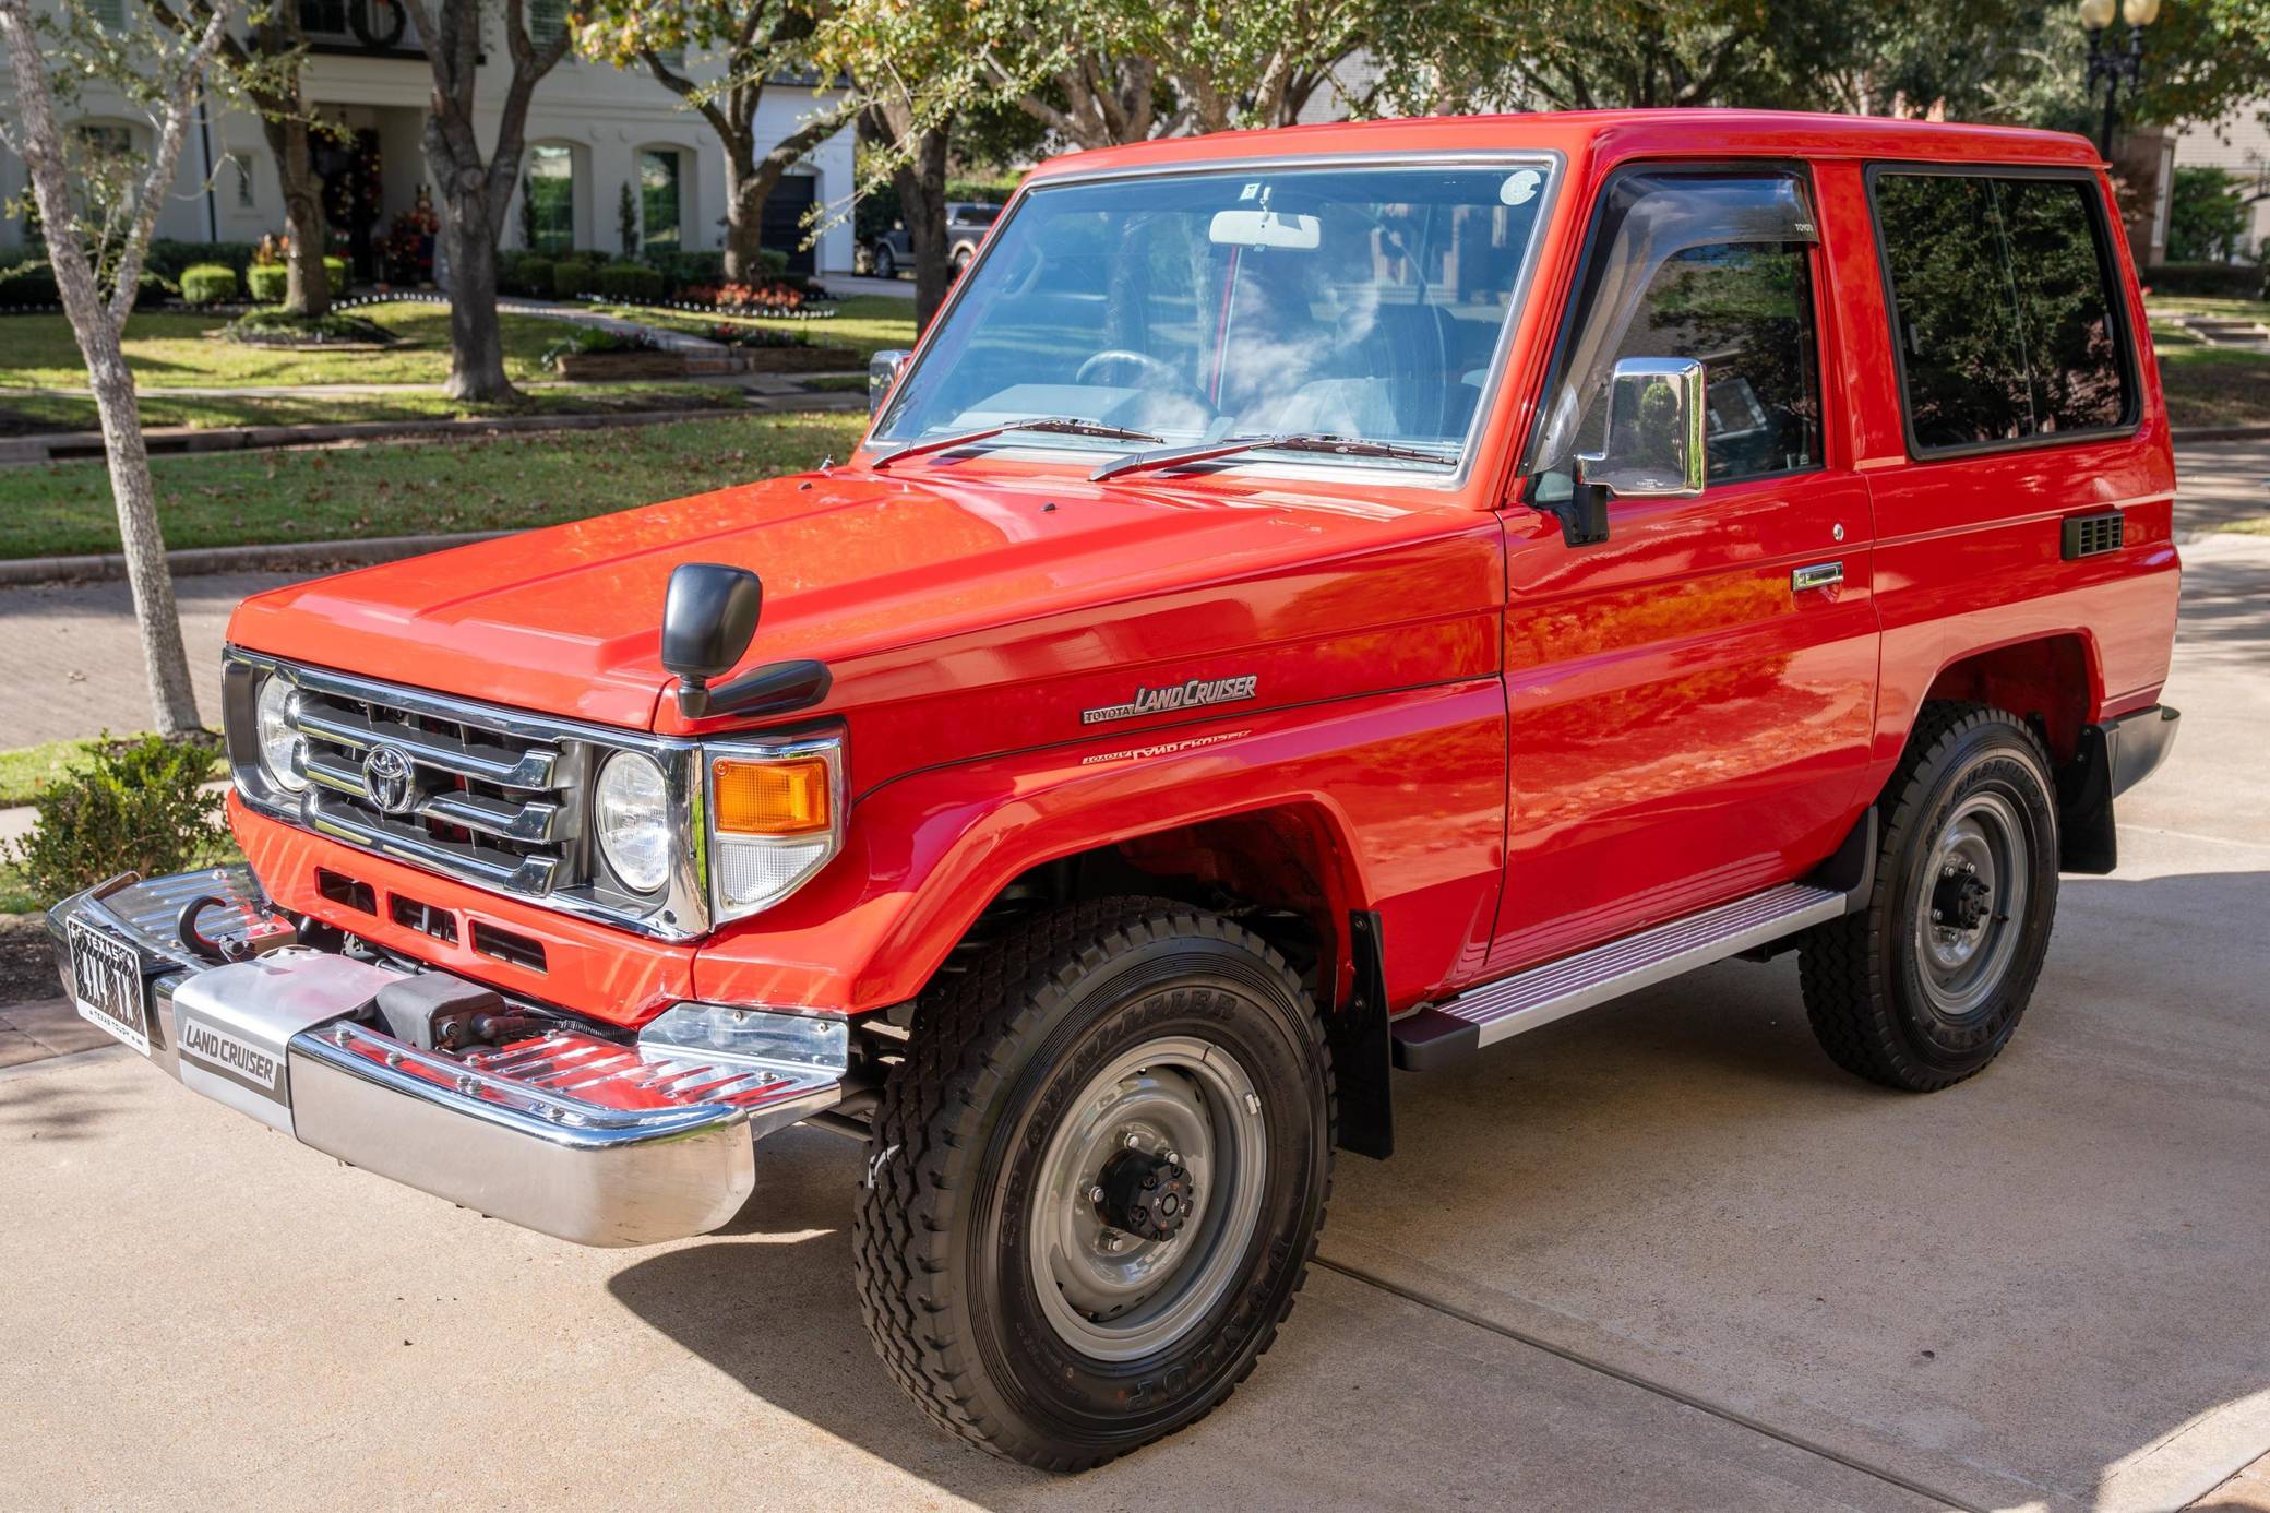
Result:
{"label": "entire front wheel with black knobby tyre on the red Land Cruiser", "polygon": [[1253,1370],[1330,1179],[1330,1052],[1285,961],[1183,904],[1076,904],[917,1015],[874,1115],[860,1313],[944,1429],[1085,1470]]}

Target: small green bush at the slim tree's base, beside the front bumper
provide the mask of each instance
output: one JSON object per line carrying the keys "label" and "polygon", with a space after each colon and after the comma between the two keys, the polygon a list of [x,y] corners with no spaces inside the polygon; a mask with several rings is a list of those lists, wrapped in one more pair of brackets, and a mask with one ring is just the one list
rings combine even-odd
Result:
{"label": "small green bush at the slim tree's base, beside the front bumper", "polygon": [[220,841],[220,795],[211,738],[111,741],[54,779],[36,800],[39,820],[11,852],[32,893],[48,902],[118,872],[157,877],[197,863]]}

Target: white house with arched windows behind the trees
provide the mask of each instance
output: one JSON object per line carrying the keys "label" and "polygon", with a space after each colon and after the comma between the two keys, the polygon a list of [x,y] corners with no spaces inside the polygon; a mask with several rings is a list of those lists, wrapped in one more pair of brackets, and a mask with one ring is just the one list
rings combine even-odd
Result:
{"label": "white house with arched windows behind the trees", "polygon": [[[395,216],[411,211],[427,182],[420,134],[424,132],[431,73],[418,36],[402,25],[393,0],[297,0],[309,36],[306,93],[331,120],[354,136],[325,145],[320,168],[334,243],[361,277],[379,277],[381,245]],[[104,20],[136,20],[138,0],[95,0]],[[502,9],[502,7],[495,7]],[[561,0],[533,7],[538,27],[558,25]],[[490,27],[497,25],[493,18]],[[699,75],[701,59],[695,59]],[[502,36],[484,50],[479,100],[490,132],[504,100],[511,64]],[[7,70],[0,70],[0,114],[9,109]],[[824,102],[806,82],[774,82],[758,111],[763,136],[785,136]],[[70,125],[116,150],[141,152],[150,125],[111,95],[89,93]],[[579,61],[570,55],[536,86],[522,161],[522,195],[533,186],[536,241],[549,248],[622,245],[620,195],[631,186],[633,211],[645,245],[706,250],[724,245],[724,150],[715,134],[679,95],[645,70],[622,70]],[[801,218],[815,202],[829,204],[851,193],[851,132],[838,132],[790,170],[765,207],[765,245],[790,252],[792,266],[813,273],[851,268],[849,218],[804,248]],[[23,161],[0,148],[0,200],[25,191]],[[524,245],[518,204],[506,220],[504,245]],[[191,129],[182,150],[173,195],[157,234],[177,241],[259,241],[284,229],[284,193],[257,118],[211,109]],[[0,248],[23,241],[20,220],[0,220]]]}

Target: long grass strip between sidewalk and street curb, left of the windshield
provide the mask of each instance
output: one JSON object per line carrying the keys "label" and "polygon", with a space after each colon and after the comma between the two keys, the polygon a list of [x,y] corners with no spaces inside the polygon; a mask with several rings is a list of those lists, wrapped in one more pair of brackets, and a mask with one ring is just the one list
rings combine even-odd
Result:
{"label": "long grass strip between sidewalk and street curb, left of the windshield", "polygon": [[[452,436],[322,452],[157,457],[175,547],[513,529],[813,468],[867,418],[749,416],[599,432]],[[0,468],[0,557],[116,552],[100,461]]]}

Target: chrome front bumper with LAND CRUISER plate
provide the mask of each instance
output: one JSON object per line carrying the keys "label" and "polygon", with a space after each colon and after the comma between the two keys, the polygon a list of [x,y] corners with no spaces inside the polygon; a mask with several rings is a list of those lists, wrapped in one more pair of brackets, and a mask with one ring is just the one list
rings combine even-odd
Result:
{"label": "chrome front bumper with LAND CRUISER plate", "polygon": [[141,959],[150,1061],[170,1077],[477,1213],[581,1245],[706,1234],[749,1197],[754,1143],[842,1097],[842,1020],[699,1009],[676,1020],[715,1036],[699,1045],[561,1025],[504,1047],[420,1050],[370,1011],[406,972],[297,945],[213,966],[173,925],[200,893],[252,897],[254,884],[229,868],[57,904],[48,931],[66,993],[77,920]]}

